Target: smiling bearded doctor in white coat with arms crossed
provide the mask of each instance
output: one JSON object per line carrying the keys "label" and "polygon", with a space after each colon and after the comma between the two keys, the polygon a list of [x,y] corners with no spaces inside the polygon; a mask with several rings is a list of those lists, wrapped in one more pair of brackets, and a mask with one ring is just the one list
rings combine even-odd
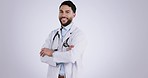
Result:
{"label": "smiling bearded doctor in white coat with arms crossed", "polygon": [[72,22],[76,6],[64,1],[59,6],[61,27],[53,30],[41,51],[41,61],[48,64],[47,78],[82,78],[82,56],[86,40],[82,31]]}

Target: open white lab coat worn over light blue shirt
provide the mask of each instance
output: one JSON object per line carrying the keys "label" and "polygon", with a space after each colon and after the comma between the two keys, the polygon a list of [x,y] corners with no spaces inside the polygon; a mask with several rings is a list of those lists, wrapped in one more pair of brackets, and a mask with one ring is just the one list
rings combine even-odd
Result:
{"label": "open white lab coat worn over light blue shirt", "polygon": [[63,38],[63,42],[69,37],[68,44],[74,45],[74,48],[70,51],[66,51],[66,47],[63,46],[63,42],[59,40],[58,36],[53,37],[59,31],[61,38],[60,28],[52,31],[49,37],[45,41],[42,48],[56,49],[52,57],[41,57],[41,61],[48,64],[47,78],[58,78],[60,66],[57,63],[64,63],[66,78],[82,78],[82,56],[86,46],[86,38],[82,31],[72,25],[70,31],[67,32]]}

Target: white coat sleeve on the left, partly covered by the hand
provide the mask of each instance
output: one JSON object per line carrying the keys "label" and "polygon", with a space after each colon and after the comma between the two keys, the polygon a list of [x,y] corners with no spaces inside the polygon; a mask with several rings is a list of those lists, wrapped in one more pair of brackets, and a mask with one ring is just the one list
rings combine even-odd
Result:
{"label": "white coat sleeve on the left, partly covered by the hand", "polygon": [[[49,34],[48,38],[46,39],[44,45],[42,46],[42,48],[49,48],[51,47],[51,39],[52,39],[52,34],[53,32],[51,32],[51,34]],[[49,57],[47,55],[45,55],[44,57],[40,56],[41,62],[52,65],[52,66],[56,66],[56,62],[53,61],[52,57]]]}

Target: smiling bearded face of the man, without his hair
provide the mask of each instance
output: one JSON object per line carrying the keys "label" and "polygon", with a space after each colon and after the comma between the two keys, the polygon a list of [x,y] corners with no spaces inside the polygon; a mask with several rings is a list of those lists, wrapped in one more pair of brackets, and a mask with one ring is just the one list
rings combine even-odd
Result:
{"label": "smiling bearded face of the man, without his hair", "polygon": [[59,9],[59,20],[62,26],[69,25],[73,18],[75,17],[75,13],[72,11],[71,7],[68,5],[62,5]]}

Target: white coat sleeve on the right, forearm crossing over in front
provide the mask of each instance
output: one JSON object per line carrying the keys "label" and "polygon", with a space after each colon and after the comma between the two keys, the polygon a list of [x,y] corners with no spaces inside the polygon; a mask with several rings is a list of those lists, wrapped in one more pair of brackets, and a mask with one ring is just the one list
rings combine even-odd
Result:
{"label": "white coat sleeve on the right, forearm crossing over in front", "polygon": [[57,63],[74,63],[75,61],[80,59],[86,47],[85,36],[82,33],[79,33],[73,38],[72,45],[74,45],[74,48],[72,48],[72,50],[70,51],[55,51],[53,53],[53,60]]}

